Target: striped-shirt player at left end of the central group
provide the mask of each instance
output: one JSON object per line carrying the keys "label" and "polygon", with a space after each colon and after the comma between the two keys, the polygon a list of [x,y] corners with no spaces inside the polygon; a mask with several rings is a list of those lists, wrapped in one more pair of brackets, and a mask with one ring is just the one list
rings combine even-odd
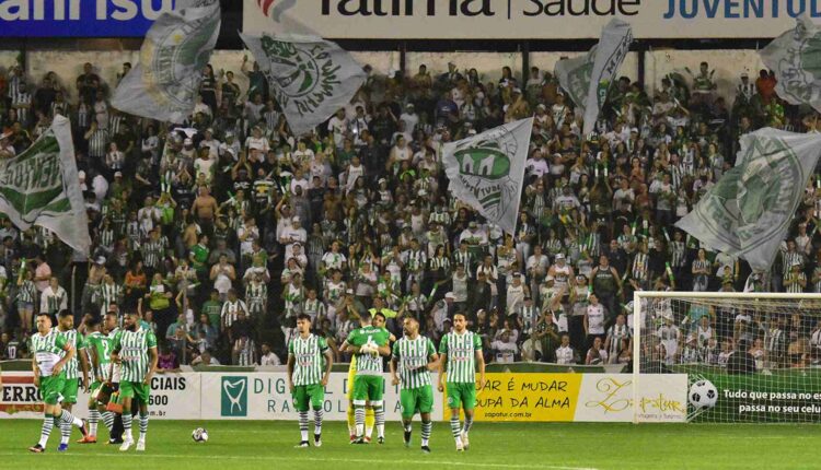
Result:
{"label": "striped-shirt player at left end of the central group", "polygon": [[299,412],[299,431],[302,437],[297,447],[308,447],[309,404],[313,408],[313,445],[320,447],[322,407],[325,404],[325,386],[331,377],[334,356],[325,339],[311,333],[310,315],[301,314],[297,317],[297,331],[299,334],[288,343],[288,389]]}

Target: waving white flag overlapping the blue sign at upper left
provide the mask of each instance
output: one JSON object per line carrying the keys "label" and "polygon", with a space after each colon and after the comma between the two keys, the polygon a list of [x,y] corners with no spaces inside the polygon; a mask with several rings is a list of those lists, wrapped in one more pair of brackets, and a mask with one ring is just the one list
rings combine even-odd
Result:
{"label": "waving white flag overlapping the blue sign at upper left", "polygon": [[219,31],[219,1],[181,0],[148,31],[140,61],[117,86],[112,105],[136,116],[183,122],[194,111]]}

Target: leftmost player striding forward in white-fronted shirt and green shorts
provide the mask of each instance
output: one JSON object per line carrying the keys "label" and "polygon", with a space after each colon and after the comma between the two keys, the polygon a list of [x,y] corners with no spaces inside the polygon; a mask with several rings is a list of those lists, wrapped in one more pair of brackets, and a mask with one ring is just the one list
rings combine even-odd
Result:
{"label": "leftmost player striding forward in white-fronted shirt and green shorts", "polygon": [[[34,361],[32,361],[32,371],[34,372],[34,385],[39,388],[43,397],[43,428],[39,435],[39,442],[28,450],[35,454],[46,451],[48,436],[55,424],[58,426],[62,423],[72,424],[80,427],[85,435],[85,423],[74,418],[69,411],[62,410],[58,398],[66,387],[66,365],[77,354],[74,346],[66,340],[66,337],[58,334],[51,329],[51,317],[42,313],[37,315],[37,332],[30,338],[30,348]],[[63,435],[60,439],[58,451],[68,449],[68,438]]]}

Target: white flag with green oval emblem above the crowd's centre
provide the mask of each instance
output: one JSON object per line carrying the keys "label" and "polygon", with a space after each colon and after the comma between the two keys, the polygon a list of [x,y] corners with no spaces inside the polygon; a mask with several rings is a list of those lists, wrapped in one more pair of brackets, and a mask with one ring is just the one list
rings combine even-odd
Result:
{"label": "white flag with green oval emblem above the crowd's centre", "polygon": [[490,223],[516,233],[533,118],[518,120],[442,146],[453,196]]}

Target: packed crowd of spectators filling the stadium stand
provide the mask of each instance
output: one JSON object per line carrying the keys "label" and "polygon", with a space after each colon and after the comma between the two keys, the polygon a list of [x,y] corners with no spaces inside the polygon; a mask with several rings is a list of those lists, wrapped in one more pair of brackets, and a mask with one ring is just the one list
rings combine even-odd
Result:
{"label": "packed crowd of spectators filling the stadium stand", "polygon": [[[337,345],[366,312],[394,333],[416,316],[435,342],[464,312],[488,361],[626,364],[635,290],[821,292],[814,181],[771,272],[673,226],[732,166],[740,134],[816,129],[767,71],[742,74],[736,96],[717,95],[707,63],[652,94],[623,77],[590,136],[535,67],[527,81],[455,63],[366,71],[350,105],[307,136],[248,61],[247,90],[208,66],[181,126],[113,108],[116,83],[92,63],[77,78],[0,74],[0,157],[68,116],[93,238],[85,258],[2,222],[2,354],[25,354],[35,312],[63,308],[78,325],[140,309],[171,365],[278,364],[300,313],[345,361]],[[519,223],[505,234],[448,192],[441,146],[533,115]]]}

